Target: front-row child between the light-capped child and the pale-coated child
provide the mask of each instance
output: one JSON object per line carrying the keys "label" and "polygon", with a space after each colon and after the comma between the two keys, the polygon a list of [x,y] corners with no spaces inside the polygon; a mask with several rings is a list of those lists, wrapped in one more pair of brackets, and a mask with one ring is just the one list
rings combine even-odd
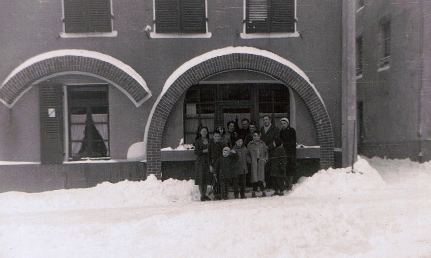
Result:
{"label": "front-row child between the light-capped child and the pale-coated child", "polygon": [[[240,188],[241,199],[245,199],[245,179],[248,173],[247,163],[250,163],[250,153],[244,146],[244,140],[242,137],[238,137],[235,141],[233,150],[238,154],[237,172],[238,184]],[[235,196],[237,198],[237,196]]]}

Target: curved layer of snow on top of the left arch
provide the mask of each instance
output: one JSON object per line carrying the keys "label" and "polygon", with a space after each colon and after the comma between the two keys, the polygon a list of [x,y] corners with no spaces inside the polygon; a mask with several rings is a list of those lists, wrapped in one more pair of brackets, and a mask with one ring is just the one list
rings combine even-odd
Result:
{"label": "curved layer of snow on top of the left arch", "polygon": [[[94,59],[98,59],[104,62],[107,62],[111,65],[116,66],[117,68],[121,69],[122,71],[124,71],[126,74],[128,74],[130,77],[132,77],[133,79],[135,79],[141,86],[142,88],[145,89],[145,91],[148,93],[148,95],[139,103],[136,103],[134,101],[134,99],[126,92],[123,90],[123,88],[118,87],[117,88],[120,89],[123,93],[125,93],[134,103],[137,107],[139,107],[143,102],[145,102],[146,100],[148,100],[149,98],[151,98],[151,90],[148,88],[147,83],[145,82],[145,80],[142,78],[141,75],[139,75],[132,67],[130,67],[129,65],[123,63],[122,61],[100,53],[100,52],[96,52],[96,51],[89,51],[89,50],[83,50],[83,49],[60,49],[60,50],[54,50],[54,51],[49,51],[49,52],[45,52],[39,55],[36,55],[34,57],[31,57],[29,59],[27,59],[26,61],[24,61],[22,64],[20,64],[18,67],[16,67],[7,77],[6,79],[3,81],[1,87],[3,87],[13,76],[17,75],[19,72],[21,72],[22,70],[24,70],[25,68],[32,66],[38,62],[41,62],[43,60],[47,60],[47,59],[51,59],[51,58],[55,58],[55,57],[60,57],[60,56],[82,56],[82,57],[88,57],[88,58],[94,58]],[[21,94],[22,95],[22,94]],[[17,98],[17,100],[21,97],[21,95]],[[15,100],[14,103],[17,101]],[[2,101],[3,102],[3,101]],[[13,104],[14,104],[13,103]],[[7,105],[7,103],[4,103],[5,105]],[[8,107],[13,106],[12,105],[7,105]]]}

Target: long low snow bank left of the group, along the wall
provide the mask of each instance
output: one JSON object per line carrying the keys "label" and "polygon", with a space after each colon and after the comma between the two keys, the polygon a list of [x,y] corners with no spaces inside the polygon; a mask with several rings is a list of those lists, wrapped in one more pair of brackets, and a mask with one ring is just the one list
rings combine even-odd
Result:
{"label": "long low snow bank left of the group, along the wall", "polygon": [[149,175],[142,182],[105,182],[87,189],[4,193],[0,195],[0,214],[169,205],[188,203],[197,196],[198,189],[191,180],[162,182]]}

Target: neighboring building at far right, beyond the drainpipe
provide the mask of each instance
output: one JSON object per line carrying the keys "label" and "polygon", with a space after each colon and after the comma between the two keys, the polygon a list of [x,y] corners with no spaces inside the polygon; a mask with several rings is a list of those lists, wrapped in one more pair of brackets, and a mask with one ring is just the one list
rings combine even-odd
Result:
{"label": "neighboring building at far right, beyond the drainpipe", "polygon": [[358,2],[358,151],[430,160],[431,2]]}

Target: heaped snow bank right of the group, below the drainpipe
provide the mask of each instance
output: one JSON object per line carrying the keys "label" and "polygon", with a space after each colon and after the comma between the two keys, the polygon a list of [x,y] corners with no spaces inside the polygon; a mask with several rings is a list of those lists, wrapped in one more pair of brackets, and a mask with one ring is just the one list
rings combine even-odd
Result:
{"label": "heaped snow bank right of the group, below the drainpipe", "polygon": [[351,167],[320,170],[312,177],[302,177],[294,185],[292,196],[310,197],[322,195],[352,195],[361,194],[371,189],[385,186],[379,172],[370,166],[367,160],[359,157]]}

